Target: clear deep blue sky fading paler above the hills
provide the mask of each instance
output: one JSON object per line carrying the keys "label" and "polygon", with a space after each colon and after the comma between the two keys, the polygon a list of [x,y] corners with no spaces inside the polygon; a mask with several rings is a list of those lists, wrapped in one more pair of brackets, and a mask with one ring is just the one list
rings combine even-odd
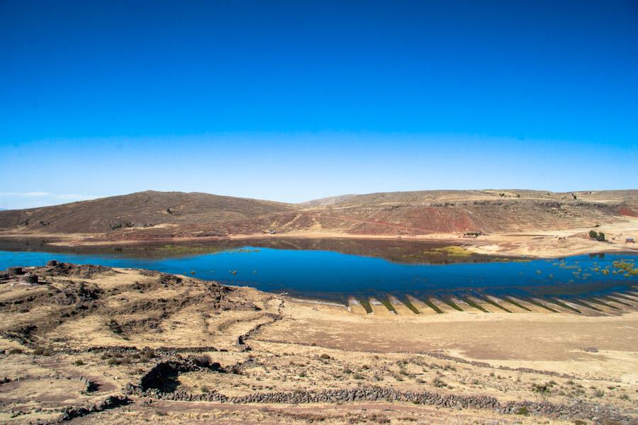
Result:
{"label": "clear deep blue sky fading paler above the hills", "polygon": [[0,208],[638,188],[637,1],[0,0]]}

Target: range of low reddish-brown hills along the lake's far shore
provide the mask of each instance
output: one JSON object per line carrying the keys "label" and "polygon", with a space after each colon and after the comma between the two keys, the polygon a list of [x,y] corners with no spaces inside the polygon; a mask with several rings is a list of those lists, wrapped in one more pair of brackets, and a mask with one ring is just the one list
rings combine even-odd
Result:
{"label": "range of low reddish-brown hills along the lake's far shore", "polygon": [[92,233],[160,239],[237,234],[408,235],[593,227],[638,216],[638,191],[414,191],[298,205],[206,193],[147,191],[0,212],[11,233]]}

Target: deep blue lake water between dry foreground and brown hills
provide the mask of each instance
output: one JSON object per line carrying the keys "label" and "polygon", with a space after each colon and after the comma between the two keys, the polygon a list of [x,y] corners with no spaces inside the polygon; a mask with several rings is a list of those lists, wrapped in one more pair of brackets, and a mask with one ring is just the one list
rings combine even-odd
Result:
{"label": "deep blue lake water between dry foreground and brown hills", "polygon": [[[1,245],[0,245],[1,247]],[[421,249],[412,249],[418,252]],[[0,251],[0,269],[43,266],[51,259],[123,268],[147,268],[252,286],[274,293],[290,293],[346,302],[347,297],[391,293],[441,295],[481,292],[493,295],[584,297],[632,290],[638,276],[625,276],[619,262],[632,264],[635,254],[597,254],[565,259],[508,260],[469,256],[436,263],[413,254],[346,254],[324,249],[275,249],[264,246],[144,249],[107,252],[52,252],[43,246],[30,251]],[[342,249],[340,247],[341,251]],[[360,249],[357,246],[357,251]],[[208,252],[206,252],[208,251]],[[467,261],[467,262],[464,262]],[[615,266],[616,265],[616,266]]]}

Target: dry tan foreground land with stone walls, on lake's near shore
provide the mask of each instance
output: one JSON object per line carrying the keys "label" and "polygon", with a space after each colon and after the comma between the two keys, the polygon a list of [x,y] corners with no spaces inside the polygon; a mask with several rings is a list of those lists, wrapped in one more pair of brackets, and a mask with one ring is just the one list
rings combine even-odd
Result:
{"label": "dry tan foreground land with stone walls, on lake's near shore", "polygon": [[634,289],[581,314],[511,297],[366,314],[154,271],[12,268],[0,421],[636,424]]}

